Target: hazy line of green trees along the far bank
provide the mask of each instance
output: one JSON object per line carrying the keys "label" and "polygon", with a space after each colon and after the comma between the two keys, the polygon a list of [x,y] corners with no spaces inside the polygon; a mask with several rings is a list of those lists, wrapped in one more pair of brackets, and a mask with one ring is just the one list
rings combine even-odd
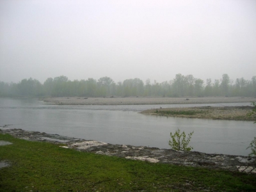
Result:
{"label": "hazy line of green trees along the far bank", "polygon": [[177,74],[171,81],[145,83],[141,79],[126,79],[115,83],[110,77],[96,80],[68,80],[66,76],[48,78],[42,84],[36,79],[22,79],[19,83],[0,81],[0,97],[256,97],[256,76],[236,81],[223,74],[221,79],[197,79],[193,75]]}

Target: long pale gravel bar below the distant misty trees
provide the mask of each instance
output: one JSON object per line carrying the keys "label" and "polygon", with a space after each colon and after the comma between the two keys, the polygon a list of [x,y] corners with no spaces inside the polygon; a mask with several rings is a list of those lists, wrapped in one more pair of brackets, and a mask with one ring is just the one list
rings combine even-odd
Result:
{"label": "long pale gravel bar below the distant misty trees", "polygon": [[254,97],[49,97],[47,104],[58,105],[142,105],[142,104],[211,104],[256,101]]}

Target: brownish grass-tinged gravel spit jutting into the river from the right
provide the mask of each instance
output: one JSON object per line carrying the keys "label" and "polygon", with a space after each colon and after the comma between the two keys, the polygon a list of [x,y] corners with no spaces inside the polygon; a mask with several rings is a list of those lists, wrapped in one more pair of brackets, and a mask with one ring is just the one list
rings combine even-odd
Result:
{"label": "brownish grass-tinged gravel spit jutting into the river from the right", "polygon": [[182,118],[202,118],[213,120],[256,121],[256,115],[248,116],[252,106],[239,107],[194,107],[194,108],[160,108],[141,111],[145,115],[173,116]]}

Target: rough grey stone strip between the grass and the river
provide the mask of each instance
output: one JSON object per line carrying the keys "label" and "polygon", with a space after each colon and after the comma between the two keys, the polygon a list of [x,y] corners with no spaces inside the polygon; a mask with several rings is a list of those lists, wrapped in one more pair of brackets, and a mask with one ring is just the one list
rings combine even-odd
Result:
{"label": "rough grey stone strip between the grass and the river", "polygon": [[74,148],[81,152],[92,152],[106,156],[149,161],[151,163],[177,164],[180,166],[195,166],[256,174],[255,157],[205,154],[144,146],[112,145],[100,141],[82,140],[58,134],[24,131],[22,129],[0,129],[0,133],[11,134],[15,138],[28,141],[50,142],[60,147]]}

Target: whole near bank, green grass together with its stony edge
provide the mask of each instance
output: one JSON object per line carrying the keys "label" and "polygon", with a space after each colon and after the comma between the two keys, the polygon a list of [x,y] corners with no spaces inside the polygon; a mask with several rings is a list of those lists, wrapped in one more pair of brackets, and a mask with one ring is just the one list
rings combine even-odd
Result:
{"label": "whole near bank, green grass together with its stony edge", "polygon": [[20,129],[1,131],[0,154],[4,192],[256,191],[254,157],[111,145]]}

